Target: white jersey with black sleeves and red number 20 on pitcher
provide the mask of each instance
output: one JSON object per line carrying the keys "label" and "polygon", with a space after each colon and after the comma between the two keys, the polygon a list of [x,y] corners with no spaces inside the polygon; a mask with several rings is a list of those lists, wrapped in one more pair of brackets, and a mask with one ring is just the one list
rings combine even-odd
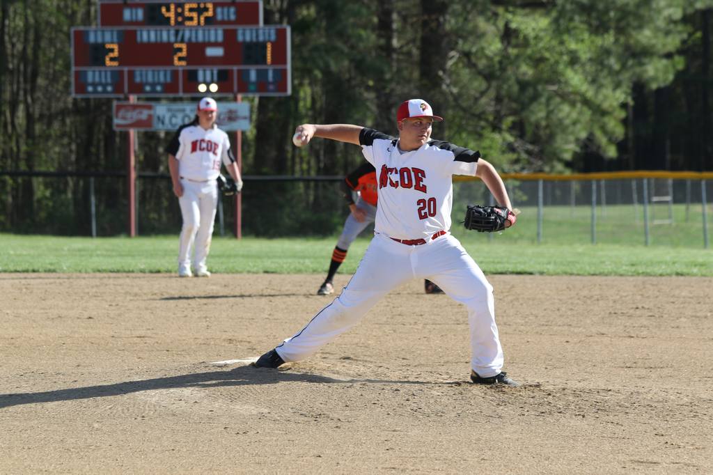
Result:
{"label": "white jersey with black sleeves and red number 20 on pitcher", "polygon": [[403,152],[396,138],[371,128],[361,129],[359,143],[379,183],[375,233],[429,239],[451,228],[452,177],[475,175],[479,152],[435,140]]}

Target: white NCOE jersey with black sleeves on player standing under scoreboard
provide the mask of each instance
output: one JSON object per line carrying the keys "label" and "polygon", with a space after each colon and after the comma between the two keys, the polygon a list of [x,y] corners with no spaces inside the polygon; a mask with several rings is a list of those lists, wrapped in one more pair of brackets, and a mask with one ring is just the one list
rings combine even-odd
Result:
{"label": "white NCOE jersey with black sleeves on player standing under scoreboard", "polygon": [[178,159],[178,174],[193,181],[215,180],[220,163],[230,165],[235,157],[227,133],[213,127],[207,131],[197,121],[181,126],[166,152]]}

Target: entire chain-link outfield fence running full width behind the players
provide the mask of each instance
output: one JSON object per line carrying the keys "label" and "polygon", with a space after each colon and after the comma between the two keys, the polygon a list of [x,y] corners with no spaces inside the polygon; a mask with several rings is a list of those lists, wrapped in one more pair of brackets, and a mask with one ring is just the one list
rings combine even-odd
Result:
{"label": "entire chain-link outfield fence running full width behind the players", "polygon": [[[520,210],[518,224],[503,235],[478,239],[709,247],[713,173],[505,174],[503,178],[513,207]],[[340,180],[245,176],[242,234],[337,235],[349,213],[339,192]],[[4,210],[0,231],[123,235],[128,228],[127,188],[121,173],[0,173],[0,209]],[[223,198],[220,203],[216,235],[232,234],[233,199]],[[470,203],[494,204],[480,180],[458,177],[452,215],[456,236],[464,235],[459,223]],[[179,233],[180,208],[167,175],[139,174],[135,205],[138,235]]]}

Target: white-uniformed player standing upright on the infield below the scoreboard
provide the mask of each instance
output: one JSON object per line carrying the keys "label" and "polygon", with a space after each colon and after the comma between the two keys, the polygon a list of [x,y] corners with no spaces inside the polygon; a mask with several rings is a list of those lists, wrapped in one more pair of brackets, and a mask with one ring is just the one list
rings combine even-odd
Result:
{"label": "white-uniformed player standing upright on the infield below the scoreboard", "polygon": [[[173,180],[173,193],[178,196],[183,228],[178,250],[180,277],[210,277],[205,263],[218,204],[217,177],[220,165],[242,189],[240,170],[230,150],[227,134],[215,126],[217,103],[202,98],[193,122],[181,126],[171,139],[168,168]],[[193,255],[190,255],[193,247]]]}

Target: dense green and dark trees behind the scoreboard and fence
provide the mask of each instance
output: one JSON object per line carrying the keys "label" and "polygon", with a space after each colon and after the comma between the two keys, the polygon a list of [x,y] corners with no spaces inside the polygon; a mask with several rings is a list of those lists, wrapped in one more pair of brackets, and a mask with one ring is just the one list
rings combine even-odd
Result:
{"label": "dense green and dark trees behind the scoreboard and fence", "polygon": [[[69,94],[69,31],[96,24],[97,2],[0,5],[0,170],[124,172],[125,139],[112,129],[112,101]],[[411,97],[446,117],[436,138],[481,150],[502,171],[713,169],[713,0],[264,0],[263,6],[265,24],[291,26],[293,94],[246,99],[250,233],[270,233],[295,215],[299,225],[285,223],[284,233],[339,228],[345,210],[336,187],[258,185],[250,178],[344,175],[360,163],[357,148],[331,141],[294,148],[294,126],[347,122],[394,133],[396,106]],[[168,173],[168,138],[138,134],[139,173]],[[125,180],[97,181],[108,219],[101,233],[120,233]],[[175,227],[178,205],[165,180],[141,181],[145,231]],[[90,185],[86,178],[0,175],[0,230],[86,233]]]}

